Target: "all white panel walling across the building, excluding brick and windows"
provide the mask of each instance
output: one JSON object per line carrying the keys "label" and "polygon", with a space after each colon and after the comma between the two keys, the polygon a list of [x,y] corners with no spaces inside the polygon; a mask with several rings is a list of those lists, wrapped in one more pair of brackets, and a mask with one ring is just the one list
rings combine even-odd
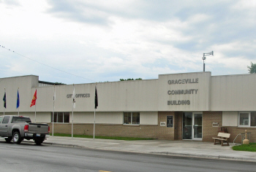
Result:
{"label": "all white panel walling across the building, excluding brick and windows", "polygon": [[[1,114],[18,114],[17,90],[20,94],[20,115],[29,116],[37,122],[50,122],[53,112],[53,85],[38,87],[39,77],[23,76],[0,79],[0,96],[7,93],[7,109],[0,106]],[[174,81],[171,83],[169,81]],[[196,81],[196,82],[195,82]],[[223,125],[237,126],[238,112],[256,111],[256,74],[211,77],[211,72],[186,74],[163,74],[159,79],[100,82],[97,83],[99,106],[96,122],[122,124],[123,112],[140,112],[141,125],[157,125],[158,112],[222,111]],[[37,89],[37,105],[30,107]],[[69,112],[72,117],[73,85],[57,85],[55,112]],[[190,94],[168,94],[168,91],[194,90]],[[195,93],[197,90],[197,93]],[[75,85],[74,122],[94,122],[95,83]],[[173,104],[168,101],[189,101],[189,104]],[[3,104],[3,103],[2,103]],[[72,120],[70,119],[70,122]]]}

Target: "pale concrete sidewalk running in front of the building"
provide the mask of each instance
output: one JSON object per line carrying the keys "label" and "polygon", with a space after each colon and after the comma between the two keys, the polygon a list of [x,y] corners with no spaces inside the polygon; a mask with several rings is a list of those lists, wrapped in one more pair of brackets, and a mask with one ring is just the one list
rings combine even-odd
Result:
{"label": "pale concrete sidewalk running in front of the building", "polygon": [[136,152],[156,155],[184,157],[203,157],[222,160],[244,160],[256,162],[256,152],[233,151],[230,146],[214,145],[214,142],[202,141],[118,141],[99,138],[70,138],[50,136],[43,144],[72,146],[89,149]]}

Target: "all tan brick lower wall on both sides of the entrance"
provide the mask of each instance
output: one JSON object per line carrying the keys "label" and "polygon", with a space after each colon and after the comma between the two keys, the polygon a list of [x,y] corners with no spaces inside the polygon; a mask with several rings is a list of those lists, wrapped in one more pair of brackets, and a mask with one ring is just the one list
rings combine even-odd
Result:
{"label": "all tan brick lower wall on both sides of the entrance", "polygon": [[[173,116],[173,128],[161,127],[160,122],[167,123],[167,116]],[[216,137],[219,127],[213,127],[212,122],[219,122],[222,126],[222,112],[203,112],[203,141],[213,142],[212,137]],[[52,124],[50,123],[50,133],[52,133]],[[71,124],[54,123],[54,133],[71,134]],[[256,142],[256,128],[238,128],[227,127],[227,133],[230,133],[230,142],[233,142],[238,133],[244,133],[244,130],[252,133],[250,141]],[[93,124],[74,124],[74,134],[93,136]],[[182,140],[182,112],[158,112],[158,125],[103,125],[97,124],[95,127],[96,136],[125,136],[138,138],[157,138],[164,140]],[[241,136],[238,136],[236,142],[241,142]]]}

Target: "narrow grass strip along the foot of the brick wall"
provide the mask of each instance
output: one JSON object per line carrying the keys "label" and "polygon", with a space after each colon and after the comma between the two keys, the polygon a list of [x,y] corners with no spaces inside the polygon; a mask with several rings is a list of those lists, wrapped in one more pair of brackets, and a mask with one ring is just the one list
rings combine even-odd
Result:
{"label": "narrow grass strip along the foot of the brick wall", "polygon": [[[52,134],[50,133],[50,136],[51,135]],[[53,136],[71,137],[71,134],[54,133]],[[94,138],[94,136],[76,135],[76,134],[73,134],[73,137]],[[124,141],[154,140],[154,138],[132,138],[132,137],[114,137],[114,136],[113,137],[112,136],[95,136],[95,138],[124,140]]]}

